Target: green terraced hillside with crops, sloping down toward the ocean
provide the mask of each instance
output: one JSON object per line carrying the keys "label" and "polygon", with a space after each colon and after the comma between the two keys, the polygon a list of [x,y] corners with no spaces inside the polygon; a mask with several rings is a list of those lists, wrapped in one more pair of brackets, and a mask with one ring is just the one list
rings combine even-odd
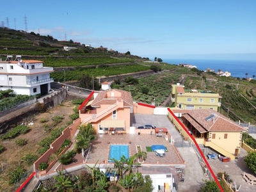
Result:
{"label": "green terraced hillside with crops, sloping down toward the ocean", "polygon": [[[63,51],[63,47],[76,47],[71,51]],[[0,55],[5,60],[6,55],[22,55],[23,59],[44,61],[44,66],[54,67],[51,74],[54,81],[77,81],[84,74],[107,78],[114,76],[115,87],[130,90],[134,100],[151,104],[155,99],[157,105],[166,102],[170,94],[171,84],[182,83],[186,89],[212,90],[220,93],[223,104],[220,112],[238,121],[256,123],[256,83],[233,77],[220,77],[211,72],[201,72],[166,63],[145,62],[148,58],[133,56],[129,52],[99,47],[86,47],[69,40],[58,41],[52,36],[42,36],[33,32],[0,29]],[[122,79],[122,74],[132,74],[152,69],[155,75],[141,77],[138,84]],[[65,70],[65,76],[63,73]],[[131,79],[130,79],[131,80]],[[147,94],[141,89],[148,88]],[[170,102],[167,102],[170,104]],[[170,104],[172,106],[172,104]],[[233,115],[236,113],[237,116]]]}

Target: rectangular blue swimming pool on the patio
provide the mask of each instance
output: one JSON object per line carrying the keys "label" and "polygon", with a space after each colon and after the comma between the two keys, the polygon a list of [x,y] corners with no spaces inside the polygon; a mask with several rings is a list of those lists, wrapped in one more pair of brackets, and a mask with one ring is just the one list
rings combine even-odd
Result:
{"label": "rectangular blue swimming pool on the patio", "polygon": [[120,161],[123,155],[129,158],[129,145],[110,145],[108,162],[113,162],[113,158]]}

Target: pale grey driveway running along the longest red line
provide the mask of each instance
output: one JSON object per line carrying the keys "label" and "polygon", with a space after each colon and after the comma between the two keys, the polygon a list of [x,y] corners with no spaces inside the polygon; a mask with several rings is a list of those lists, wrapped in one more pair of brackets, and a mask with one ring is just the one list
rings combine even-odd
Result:
{"label": "pale grey driveway running along the longest red line", "polygon": [[[132,118],[131,125],[138,127],[140,125],[153,125],[157,128],[167,128],[168,132],[173,136],[174,140],[180,140],[181,136],[170,122],[167,115],[145,115],[136,114]],[[195,150],[192,147],[178,147],[180,155],[186,161],[184,171],[184,182],[179,182],[178,189],[180,192],[197,191],[201,184],[204,184],[204,172],[198,161]]]}

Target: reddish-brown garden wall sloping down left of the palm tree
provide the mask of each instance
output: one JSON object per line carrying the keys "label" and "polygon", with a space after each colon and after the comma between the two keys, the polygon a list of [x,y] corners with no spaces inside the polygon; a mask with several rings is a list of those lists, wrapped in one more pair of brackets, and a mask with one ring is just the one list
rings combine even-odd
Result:
{"label": "reddish-brown garden wall sloping down left of the palm tree", "polygon": [[[79,127],[80,124],[81,124],[80,118],[77,118],[76,120],[74,120],[73,124],[69,125],[66,129],[64,129],[61,136],[51,143],[51,146],[47,150],[47,152],[45,152],[41,157],[39,157],[39,159],[35,161],[35,163],[33,164],[33,169],[34,169],[34,172],[36,172],[36,175],[38,175],[38,172],[39,172],[38,170],[39,164],[42,162],[47,163],[51,154],[55,154],[56,152],[58,152],[59,148],[61,147],[61,145],[64,143],[66,139],[71,140],[71,138],[74,136],[74,134],[77,131],[77,127]],[[49,166],[47,170],[45,170],[44,172],[41,172],[40,174],[46,173],[50,169],[51,169],[51,166]]]}

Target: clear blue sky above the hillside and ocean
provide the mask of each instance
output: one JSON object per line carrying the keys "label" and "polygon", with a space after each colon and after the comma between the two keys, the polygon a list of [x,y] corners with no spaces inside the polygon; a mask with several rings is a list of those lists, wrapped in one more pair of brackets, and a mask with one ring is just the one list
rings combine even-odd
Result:
{"label": "clear blue sky above the hillside and ocean", "polygon": [[[142,57],[256,60],[255,0],[6,1],[0,25]],[[9,6],[8,6],[9,5]],[[15,22],[14,22],[15,19]]]}

